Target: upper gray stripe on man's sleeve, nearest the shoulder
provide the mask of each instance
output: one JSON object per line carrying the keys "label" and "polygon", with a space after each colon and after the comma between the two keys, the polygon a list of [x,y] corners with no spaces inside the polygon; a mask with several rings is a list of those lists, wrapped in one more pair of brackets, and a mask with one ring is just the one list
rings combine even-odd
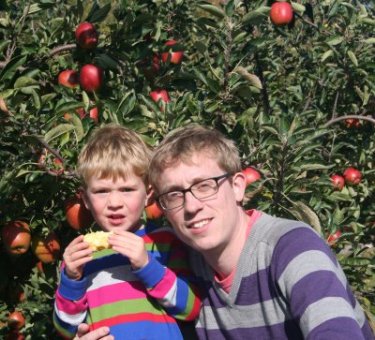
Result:
{"label": "upper gray stripe on man's sleeve, nearest the shoulder", "polygon": [[342,271],[332,263],[331,259],[319,250],[309,250],[296,256],[285,267],[278,280],[279,286],[286,296],[290,297],[294,285],[306,275],[316,271],[327,270],[335,273],[346,289],[346,280]]}

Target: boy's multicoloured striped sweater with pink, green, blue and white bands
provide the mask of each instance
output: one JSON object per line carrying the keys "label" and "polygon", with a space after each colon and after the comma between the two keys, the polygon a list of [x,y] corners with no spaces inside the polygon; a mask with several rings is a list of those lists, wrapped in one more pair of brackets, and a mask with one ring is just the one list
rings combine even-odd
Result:
{"label": "boy's multicoloured striped sweater with pink, green, blue and white bands", "polygon": [[149,223],[136,234],[149,254],[140,270],[110,249],[94,253],[79,281],[62,269],[53,317],[61,335],[73,338],[87,322],[91,329],[109,326],[115,339],[182,339],[176,319],[193,320],[200,307],[185,247],[170,228]]}

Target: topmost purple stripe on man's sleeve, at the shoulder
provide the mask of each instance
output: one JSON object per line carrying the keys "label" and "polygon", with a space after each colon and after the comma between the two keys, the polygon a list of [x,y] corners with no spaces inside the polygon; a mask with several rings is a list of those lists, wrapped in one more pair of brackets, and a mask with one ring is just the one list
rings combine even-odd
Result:
{"label": "topmost purple stripe on man's sleeve, at the shoulder", "polygon": [[319,250],[325,253],[335,264],[335,266],[337,266],[335,255],[320,238],[320,236],[309,227],[301,227],[287,232],[280,238],[275,246],[271,263],[277,264],[277,266],[273,269],[276,271],[274,273],[276,275],[276,279],[279,279],[285,267],[291,260],[293,260],[297,255],[309,250]]}

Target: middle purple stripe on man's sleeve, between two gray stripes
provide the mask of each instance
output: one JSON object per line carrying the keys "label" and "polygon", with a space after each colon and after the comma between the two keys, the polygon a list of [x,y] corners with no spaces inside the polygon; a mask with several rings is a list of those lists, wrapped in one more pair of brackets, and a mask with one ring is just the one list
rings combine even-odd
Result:
{"label": "middle purple stripe on man's sleeve, between two gray stripes", "polygon": [[322,270],[308,274],[292,289],[289,299],[292,314],[299,318],[309,305],[326,297],[342,297],[347,300],[348,295],[335,273]]}

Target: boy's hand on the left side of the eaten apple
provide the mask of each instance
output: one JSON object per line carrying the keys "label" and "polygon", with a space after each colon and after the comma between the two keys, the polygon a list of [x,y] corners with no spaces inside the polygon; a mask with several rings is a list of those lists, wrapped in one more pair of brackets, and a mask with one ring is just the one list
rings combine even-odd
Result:
{"label": "boy's hand on the left side of the eaten apple", "polygon": [[92,260],[92,250],[88,243],[83,241],[83,235],[78,236],[65,248],[65,273],[72,280],[82,277],[84,265]]}

